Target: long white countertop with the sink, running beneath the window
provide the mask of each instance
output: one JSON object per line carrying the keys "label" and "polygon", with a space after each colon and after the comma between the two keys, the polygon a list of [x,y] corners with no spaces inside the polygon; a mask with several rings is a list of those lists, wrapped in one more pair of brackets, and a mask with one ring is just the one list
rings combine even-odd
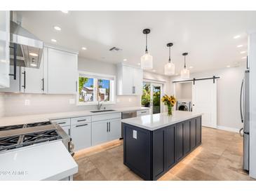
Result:
{"label": "long white countertop with the sink, running beneath the window", "polygon": [[36,114],[36,115],[27,115],[27,116],[6,116],[0,118],[0,127],[8,126],[8,125],[20,125],[26,123],[35,123],[41,121],[49,121],[52,119],[60,119],[60,118],[74,118],[79,116],[97,116],[102,114],[113,114],[119,112],[126,111],[141,111],[141,110],[149,110],[147,107],[122,107],[116,108],[114,111],[106,111],[100,113],[92,113],[90,111],[95,110],[84,110],[84,111],[69,111],[62,113],[53,113],[53,114]]}

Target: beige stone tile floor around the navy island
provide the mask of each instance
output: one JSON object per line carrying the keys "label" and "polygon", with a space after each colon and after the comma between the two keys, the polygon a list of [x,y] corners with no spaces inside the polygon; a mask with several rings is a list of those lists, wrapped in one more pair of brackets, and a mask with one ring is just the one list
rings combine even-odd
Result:
{"label": "beige stone tile floor around the navy island", "polygon": [[[123,144],[77,156],[74,180],[142,180],[123,165]],[[159,180],[253,180],[243,171],[243,137],[238,133],[203,128],[202,144]]]}

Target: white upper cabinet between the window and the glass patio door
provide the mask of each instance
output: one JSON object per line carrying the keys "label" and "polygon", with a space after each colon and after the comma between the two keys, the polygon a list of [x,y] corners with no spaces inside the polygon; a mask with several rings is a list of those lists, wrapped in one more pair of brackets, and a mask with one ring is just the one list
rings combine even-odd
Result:
{"label": "white upper cabinet between the window and the glass patio door", "polygon": [[143,70],[120,64],[117,67],[117,95],[142,95]]}

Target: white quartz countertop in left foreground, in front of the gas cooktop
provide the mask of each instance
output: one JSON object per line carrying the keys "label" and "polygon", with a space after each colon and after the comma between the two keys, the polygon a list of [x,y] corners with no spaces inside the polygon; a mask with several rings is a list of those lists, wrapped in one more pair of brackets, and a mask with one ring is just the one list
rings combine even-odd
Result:
{"label": "white quartz countertop in left foreground, in front of the gas cooktop", "polygon": [[56,181],[78,172],[78,165],[61,141],[1,153],[0,161],[0,181]]}

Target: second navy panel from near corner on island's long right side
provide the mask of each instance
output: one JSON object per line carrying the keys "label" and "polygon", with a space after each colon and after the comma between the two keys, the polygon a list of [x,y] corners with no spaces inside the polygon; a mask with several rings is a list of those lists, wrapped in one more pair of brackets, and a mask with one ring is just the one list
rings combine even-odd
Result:
{"label": "second navy panel from near corner on island's long right side", "polygon": [[166,170],[175,163],[175,125],[166,128]]}

